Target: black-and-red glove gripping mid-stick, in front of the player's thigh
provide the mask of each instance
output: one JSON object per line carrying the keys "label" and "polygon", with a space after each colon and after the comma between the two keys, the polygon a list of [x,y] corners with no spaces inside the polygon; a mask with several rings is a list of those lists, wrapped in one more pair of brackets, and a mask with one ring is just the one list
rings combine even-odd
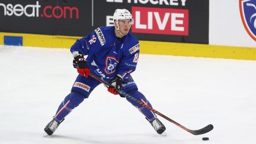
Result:
{"label": "black-and-red glove gripping mid-stick, in front of the player's thigh", "polygon": [[[108,88],[108,91],[111,92],[114,95],[119,94],[117,91],[119,91],[123,87],[123,78],[121,78],[121,75],[116,75],[114,78],[111,79],[110,84],[112,87]],[[123,95],[120,95],[123,97]]]}

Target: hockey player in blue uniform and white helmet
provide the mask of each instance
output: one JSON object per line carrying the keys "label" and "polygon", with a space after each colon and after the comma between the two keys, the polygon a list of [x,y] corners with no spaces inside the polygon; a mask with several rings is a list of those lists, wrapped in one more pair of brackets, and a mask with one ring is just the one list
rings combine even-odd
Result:
{"label": "hockey player in blue uniform and white helmet", "polygon": [[[133,23],[132,14],[127,9],[116,9],[114,12],[114,26],[99,27],[88,36],[76,40],[71,47],[73,55],[73,67],[79,75],[65,99],[60,103],[53,120],[44,128],[48,135],[52,135],[64,118],[77,107],[85,98],[88,98],[97,85],[101,84],[89,76],[93,73],[107,81],[113,87],[108,91],[117,95],[116,91],[121,89],[137,100],[152,107],[145,96],[138,91],[130,73],[135,71],[139,58],[139,41],[129,33]],[[87,55],[85,59],[84,56]],[[120,95],[120,97],[124,97]],[[152,111],[142,105],[132,103],[151,123],[157,133],[165,131],[164,124],[157,119]]]}

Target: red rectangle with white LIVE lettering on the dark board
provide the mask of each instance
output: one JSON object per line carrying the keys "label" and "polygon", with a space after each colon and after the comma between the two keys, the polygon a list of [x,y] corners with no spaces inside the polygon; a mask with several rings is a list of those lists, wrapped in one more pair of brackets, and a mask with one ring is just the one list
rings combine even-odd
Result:
{"label": "red rectangle with white LIVE lettering on the dark board", "polygon": [[133,33],[188,36],[188,9],[132,7]]}

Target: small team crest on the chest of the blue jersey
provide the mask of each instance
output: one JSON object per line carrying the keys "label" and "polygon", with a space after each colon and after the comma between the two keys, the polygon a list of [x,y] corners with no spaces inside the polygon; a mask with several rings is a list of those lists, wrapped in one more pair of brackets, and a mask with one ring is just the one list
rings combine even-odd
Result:
{"label": "small team crest on the chest of the blue jersey", "polygon": [[105,60],[105,73],[107,73],[108,75],[114,73],[116,71],[118,63],[119,60],[117,60],[116,57],[107,56],[107,59]]}

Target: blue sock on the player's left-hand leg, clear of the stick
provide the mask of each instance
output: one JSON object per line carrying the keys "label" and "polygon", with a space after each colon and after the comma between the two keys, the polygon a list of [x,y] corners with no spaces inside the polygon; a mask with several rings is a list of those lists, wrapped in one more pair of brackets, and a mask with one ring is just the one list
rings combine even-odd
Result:
{"label": "blue sock on the player's left-hand leg, clear of the stick", "polygon": [[57,109],[54,119],[60,123],[72,110],[84,101],[84,97],[79,92],[71,92],[65,97]]}

